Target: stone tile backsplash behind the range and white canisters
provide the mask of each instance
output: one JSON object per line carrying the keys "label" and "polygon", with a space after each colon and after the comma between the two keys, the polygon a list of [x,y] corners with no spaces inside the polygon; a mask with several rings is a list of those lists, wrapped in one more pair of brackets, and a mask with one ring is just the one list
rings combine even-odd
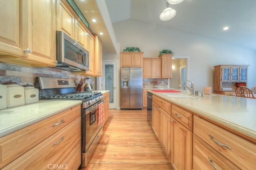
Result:
{"label": "stone tile backsplash behind the range and white canisters", "polygon": [[29,67],[0,62],[0,83],[11,80],[12,82],[18,83],[20,86],[27,83],[35,86],[36,77],[38,76],[71,78],[74,79],[76,83],[78,83],[81,78],[86,78],[86,76],[72,74],[70,71],[51,67]]}

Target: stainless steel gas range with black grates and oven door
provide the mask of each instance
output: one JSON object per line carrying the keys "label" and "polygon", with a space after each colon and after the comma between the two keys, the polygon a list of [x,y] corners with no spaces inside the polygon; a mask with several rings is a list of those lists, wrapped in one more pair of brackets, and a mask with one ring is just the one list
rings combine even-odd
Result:
{"label": "stainless steel gas range with black grates and oven door", "polygon": [[97,108],[103,104],[100,92],[76,92],[73,79],[38,77],[36,86],[40,88],[40,100],[82,100],[81,139],[82,166],[87,166],[101,136],[102,124],[96,125]]}

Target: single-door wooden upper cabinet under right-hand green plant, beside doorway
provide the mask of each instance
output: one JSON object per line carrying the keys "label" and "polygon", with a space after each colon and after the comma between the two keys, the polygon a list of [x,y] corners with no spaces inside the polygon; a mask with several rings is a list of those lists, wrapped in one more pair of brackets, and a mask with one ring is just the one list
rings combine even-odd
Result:
{"label": "single-door wooden upper cabinet under right-hand green plant, beside doorway", "polygon": [[172,54],[162,54],[162,78],[172,78]]}

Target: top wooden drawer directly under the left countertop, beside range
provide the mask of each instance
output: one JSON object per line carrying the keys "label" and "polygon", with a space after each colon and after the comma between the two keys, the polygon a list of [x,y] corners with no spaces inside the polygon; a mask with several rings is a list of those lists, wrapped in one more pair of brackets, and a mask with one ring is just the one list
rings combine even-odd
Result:
{"label": "top wooden drawer directly under the left countertop, beside range", "polygon": [[[2,158],[0,168],[10,163],[15,158],[18,158],[18,156],[33,148],[77,117],[80,117],[80,109],[80,105],[72,107],[62,113],[56,114],[0,138]],[[60,123],[62,120],[63,122]]]}

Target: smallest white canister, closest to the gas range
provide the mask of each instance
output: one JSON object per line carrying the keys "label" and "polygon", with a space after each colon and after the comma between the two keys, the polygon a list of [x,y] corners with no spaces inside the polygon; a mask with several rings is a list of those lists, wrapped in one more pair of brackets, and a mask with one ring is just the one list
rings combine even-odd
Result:
{"label": "smallest white canister, closest to the gas range", "polygon": [[25,89],[25,104],[38,102],[38,89],[30,84],[23,85],[23,87]]}

